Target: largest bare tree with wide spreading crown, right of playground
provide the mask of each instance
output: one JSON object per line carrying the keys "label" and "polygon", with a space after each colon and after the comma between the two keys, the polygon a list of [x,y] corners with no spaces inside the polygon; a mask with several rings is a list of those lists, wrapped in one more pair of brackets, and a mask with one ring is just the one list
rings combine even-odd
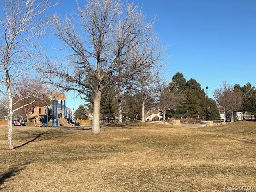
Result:
{"label": "largest bare tree with wide spreading crown, right of playground", "polygon": [[[91,93],[92,133],[100,134],[102,90],[125,78],[131,68],[137,68],[138,63],[132,66],[127,62],[127,55],[146,41],[152,24],[144,24],[145,16],[136,6],[124,7],[114,0],[88,0],[84,8],[78,6],[77,16],[79,20],[66,16],[64,23],[56,17],[55,25],[57,36],[72,50],[68,56],[72,66],[48,62],[50,71],[44,74],[54,74],[57,78],[47,77],[48,82],[63,90],[75,90],[85,96]],[[123,86],[121,81],[117,84]]]}

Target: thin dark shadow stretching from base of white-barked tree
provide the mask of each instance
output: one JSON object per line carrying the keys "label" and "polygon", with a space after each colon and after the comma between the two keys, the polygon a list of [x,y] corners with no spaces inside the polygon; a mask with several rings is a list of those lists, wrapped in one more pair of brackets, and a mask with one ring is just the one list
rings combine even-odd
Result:
{"label": "thin dark shadow stretching from base of white-barked tree", "polygon": [[67,132],[64,133],[63,131],[52,131],[52,130],[47,130],[45,132],[23,132],[23,133],[34,136],[34,138],[32,138],[31,140],[26,140],[24,144],[16,146],[14,147],[14,149],[23,147],[31,142],[54,139],[54,138],[62,137],[68,134]]}

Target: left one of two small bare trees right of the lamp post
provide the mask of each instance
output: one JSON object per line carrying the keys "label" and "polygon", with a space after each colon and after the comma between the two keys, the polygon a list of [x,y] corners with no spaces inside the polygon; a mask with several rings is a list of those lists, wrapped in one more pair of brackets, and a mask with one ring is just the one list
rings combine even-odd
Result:
{"label": "left one of two small bare trees right of the lamp post", "polygon": [[232,90],[232,87],[227,84],[226,81],[222,82],[222,86],[220,88],[216,88],[213,91],[213,96],[218,103],[219,106],[224,108],[224,123],[226,122],[226,110],[231,105],[231,100],[229,98],[229,92]]}

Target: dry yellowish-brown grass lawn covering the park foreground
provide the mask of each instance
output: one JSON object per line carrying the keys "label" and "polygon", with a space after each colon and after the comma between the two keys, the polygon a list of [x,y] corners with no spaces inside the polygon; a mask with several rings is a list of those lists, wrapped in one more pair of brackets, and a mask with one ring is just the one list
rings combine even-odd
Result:
{"label": "dry yellowish-brown grass lawn covering the park foreground", "polygon": [[[59,129],[59,130],[56,130]],[[0,190],[219,192],[256,190],[256,122],[173,128],[154,123],[81,128],[0,127]]]}

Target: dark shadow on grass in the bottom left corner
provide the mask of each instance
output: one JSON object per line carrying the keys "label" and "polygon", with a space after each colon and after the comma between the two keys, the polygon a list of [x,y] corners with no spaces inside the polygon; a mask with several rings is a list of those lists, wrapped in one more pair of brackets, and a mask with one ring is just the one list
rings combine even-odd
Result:
{"label": "dark shadow on grass in the bottom left corner", "polygon": [[[26,168],[26,166],[28,166],[28,164],[30,164],[31,161],[28,161],[24,164],[18,164],[15,166],[10,167],[7,171],[0,173],[0,186],[9,178],[12,178],[16,175],[18,175],[18,173],[22,170],[24,170]],[[3,188],[0,188],[0,190]]]}

